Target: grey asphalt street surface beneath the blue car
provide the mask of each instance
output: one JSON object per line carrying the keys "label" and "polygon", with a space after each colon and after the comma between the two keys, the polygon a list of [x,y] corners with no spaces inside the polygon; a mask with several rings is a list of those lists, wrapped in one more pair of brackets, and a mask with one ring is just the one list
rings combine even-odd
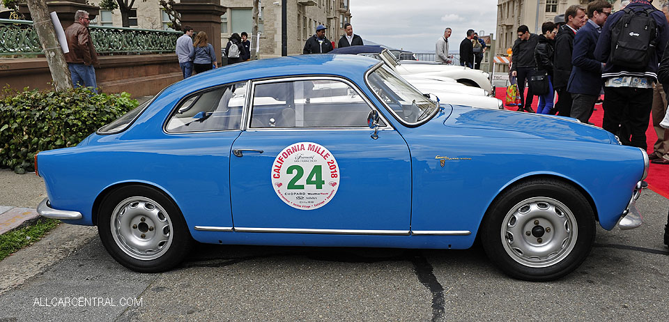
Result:
{"label": "grey asphalt street surface beneath the blue car", "polygon": [[[11,176],[33,186],[40,180]],[[3,188],[6,177],[0,171]],[[26,187],[26,203],[19,198],[17,205],[30,206],[41,194]],[[0,192],[0,204],[5,198]],[[143,274],[116,263],[94,227],[61,224],[0,261],[0,321],[663,319],[669,312],[669,253],[662,239],[669,200],[645,190],[638,207],[642,227],[598,229],[580,268],[541,283],[507,277],[480,247],[197,244],[178,268]]]}

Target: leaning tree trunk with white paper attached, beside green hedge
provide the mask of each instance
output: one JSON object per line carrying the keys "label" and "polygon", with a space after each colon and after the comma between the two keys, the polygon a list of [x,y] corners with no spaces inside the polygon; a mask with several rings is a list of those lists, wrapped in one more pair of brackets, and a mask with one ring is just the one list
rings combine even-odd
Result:
{"label": "leaning tree trunk with white paper attached, beside green hedge", "polygon": [[37,31],[40,43],[47,57],[49,71],[54,79],[56,91],[66,91],[72,89],[72,79],[68,63],[65,61],[65,54],[61,45],[56,39],[56,31],[51,21],[51,16],[47,13],[47,3],[45,0],[27,0],[28,10],[33,17],[33,28]]}

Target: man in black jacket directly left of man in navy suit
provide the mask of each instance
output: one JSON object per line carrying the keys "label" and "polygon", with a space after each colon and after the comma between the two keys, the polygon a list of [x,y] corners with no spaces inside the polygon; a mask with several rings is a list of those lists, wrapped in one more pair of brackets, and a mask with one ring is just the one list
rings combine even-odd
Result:
{"label": "man in black jacket directly left of man in navy suit", "polygon": [[575,4],[564,12],[567,24],[561,26],[555,37],[555,59],[553,60],[553,88],[557,91],[555,108],[560,116],[571,113],[571,94],[567,92],[569,74],[571,74],[571,52],[574,52],[576,31],[587,22],[585,7]]}

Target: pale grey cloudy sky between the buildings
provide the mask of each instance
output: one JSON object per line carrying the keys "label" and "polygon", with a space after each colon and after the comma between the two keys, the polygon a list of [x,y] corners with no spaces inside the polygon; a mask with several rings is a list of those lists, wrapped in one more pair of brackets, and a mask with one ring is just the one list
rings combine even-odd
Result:
{"label": "pale grey cloudy sky between the buildings", "polygon": [[[497,28],[497,0],[350,0],[353,32],[363,39],[414,52],[434,52],[434,44],[453,30],[451,49],[459,49],[467,29],[486,35]],[[481,34],[479,33],[479,36]]]}

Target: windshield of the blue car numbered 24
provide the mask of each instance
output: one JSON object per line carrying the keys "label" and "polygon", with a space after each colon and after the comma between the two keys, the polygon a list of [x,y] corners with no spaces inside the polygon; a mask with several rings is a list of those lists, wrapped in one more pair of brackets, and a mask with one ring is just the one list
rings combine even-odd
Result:
{"label": "windshield of the blue car numbered 24", "polygon": [[367,82],[395,117],[408,125],[418,125],[436,112],[436,102],[426,98],[385,64],[370,72]]}

